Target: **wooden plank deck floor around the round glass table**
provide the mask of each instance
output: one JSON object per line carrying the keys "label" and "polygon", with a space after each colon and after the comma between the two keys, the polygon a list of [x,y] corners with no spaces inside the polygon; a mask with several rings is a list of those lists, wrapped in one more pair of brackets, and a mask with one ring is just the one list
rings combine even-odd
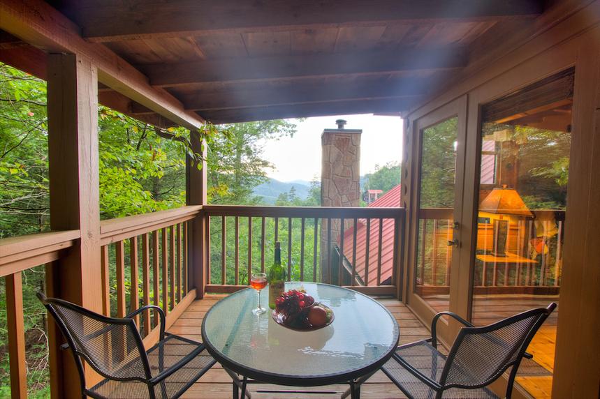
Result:
{"label": "wooden plank deck floor around the round glass table", "polygon": [[[205,299],[193,302],[189,308],[175,321],[173,326],[168,329],[170,333],[185,336],[193,340],[202,340],[200,336],[200,326],[207,310],[214,305],[224,295],[207,295]],[[395,316],[398,326],[400,326],[400,343],[413,342],[416,340],[428,338],[429,330],[417,319],[414,313],[403,303],[395,299],[379,299],[383,305]],[[292,390],[290,386],[275,386],[263,384],[251,384],[250,392],[253,398],[281,398],[281,393],[261,393],[257,390]],[[339,398],[339,396],[348,389],[347,385],[330,385],[301,388],[305,391],[314,391],[314,393],[289,393],[285,394],[285,399],[295,398]],[[182,396],[182,398],[231,398],[232,386],[231,377],[217,363],[202,378],[193,384],[191,388]],[[397,387],[390,382],[383,372],[376,372],[360,390],[360,397],[371,398],[405,398]]]}

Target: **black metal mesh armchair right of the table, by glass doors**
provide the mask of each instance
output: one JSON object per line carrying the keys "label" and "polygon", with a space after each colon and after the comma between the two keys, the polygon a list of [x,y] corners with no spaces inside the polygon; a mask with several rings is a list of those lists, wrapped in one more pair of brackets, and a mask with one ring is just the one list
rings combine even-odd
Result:
{"label": "black metal mesh armchair right of the table, by glass doors", "polygon": [[[525,350],[548,315],[556,308],[536,308],[489,326],[475,327],[452,312],[434,316],[432,337],[400,345],[381,370],[409,398],[498,398],[485,388],[511,368],[506,387],[510,399]],[[464,324],[448,356],[437,350],[436,326],[443,315]]]}

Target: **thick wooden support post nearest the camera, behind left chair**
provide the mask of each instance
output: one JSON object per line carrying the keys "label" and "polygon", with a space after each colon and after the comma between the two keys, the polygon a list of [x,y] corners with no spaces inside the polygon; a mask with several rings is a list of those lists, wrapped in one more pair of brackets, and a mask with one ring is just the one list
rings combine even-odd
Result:
{"label": "thick wooden support post nearest the camera, behind left chair", "polygon": [[[50,160],[50,227],[80,229],[81,239],[52,264],[55,296],[102,313],[100,210],[98,195],[98,79],[96,66],[74,54],[50,54],[47,61],[48,156]],[[50,346],[63,338],[54,333]],[[50,354],[59,354],[50,350]],[[54,355],[52,355],[54,356]],[[51,359],[63,378],[51,379],[52,392],[81,396],[71,354]],[[87,384],[95,382],[87,370]]]}

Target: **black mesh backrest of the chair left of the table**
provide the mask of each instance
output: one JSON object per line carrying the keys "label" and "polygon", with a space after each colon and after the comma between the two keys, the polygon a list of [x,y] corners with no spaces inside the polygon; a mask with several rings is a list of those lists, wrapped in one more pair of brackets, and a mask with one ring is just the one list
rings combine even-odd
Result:
{"label": "black mesh backrest of the chair left of the table", "polygon": [[[101,375],[140,381],[152,377],[133,319],[105,317],[71,302],[46,298],[41,293],[38,298],[56,320],[74,354],[85,359]],[[81,368],[79,361],[78,366]],[[80,375],[83,376],[82,370]]]}

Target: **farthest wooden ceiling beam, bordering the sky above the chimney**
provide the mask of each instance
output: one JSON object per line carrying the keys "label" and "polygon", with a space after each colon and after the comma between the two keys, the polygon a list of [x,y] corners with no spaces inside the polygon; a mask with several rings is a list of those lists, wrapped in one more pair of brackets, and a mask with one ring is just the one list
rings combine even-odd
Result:
{"label": "farthest wooden ceiling beam, bordering the sky above the chimney", "polygon": [[336,103],[309,103],[297,105],[274,105],[270,107],[248,107],[235,110],[214,110],[201,113],[203,118],[215,124],[269,119],[305,118],[344,114],[397,114],[412,105],[409,98],[346,100]]}

